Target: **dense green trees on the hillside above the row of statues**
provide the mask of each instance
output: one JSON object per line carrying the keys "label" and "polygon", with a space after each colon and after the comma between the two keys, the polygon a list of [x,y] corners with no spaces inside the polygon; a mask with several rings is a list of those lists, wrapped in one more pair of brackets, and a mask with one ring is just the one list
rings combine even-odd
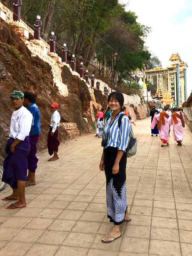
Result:
{"label": "dense green trees on the hillside above the row of statues", "polygon": [[[12,8],[12,0],[3,2]],[[100,66],[110,67],[112,52],[117,52],[113,75],[119,83],[150,60],[144,47],[150,28],[138,23],[136,14],[125,11],[118,0],[23,0],[21,17],[33,25],[37,14],[45,34],[41,36],[48,41],[54,31],[57,42],[67,43],[68,50],[87,60],[86,66],[97,58]]]}

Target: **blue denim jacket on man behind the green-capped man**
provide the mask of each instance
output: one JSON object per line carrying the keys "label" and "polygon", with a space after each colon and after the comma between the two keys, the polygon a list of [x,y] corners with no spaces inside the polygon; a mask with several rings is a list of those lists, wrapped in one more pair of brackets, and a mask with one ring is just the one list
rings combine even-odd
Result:
{"label": "blue denim jacket on man behind the green-capped man", "polygon": [[36,135],[41,132],[41,114],[39,108],[35,103],[32,103],[30,106],[28,106],[27,109],[33,115],[33,121],[29,136]]}

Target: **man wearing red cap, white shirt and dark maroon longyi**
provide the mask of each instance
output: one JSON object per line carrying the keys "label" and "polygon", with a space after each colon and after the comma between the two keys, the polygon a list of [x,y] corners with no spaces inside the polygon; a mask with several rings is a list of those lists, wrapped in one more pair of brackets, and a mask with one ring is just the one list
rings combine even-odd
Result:
{"label": "man wearing red cap, white shirt and dark maroon longyi", "polygon": [[53,157],[51,157],[48,161],[55,161],[58,160],[59,157],[57,155],[58,153],[58,147],[60,145],[60,141],[58,139],[58,133],[59,129],[58,127],[60,126],[60,114],[57,111],[58,110],[58,103],[53,102],[51,104],[51,110],[52,110],[52,116],[51,116],[51,124],[50,124],[50,130],[48,133],[48,138],[47,138],[47,147],[48,147],[48,152]]}

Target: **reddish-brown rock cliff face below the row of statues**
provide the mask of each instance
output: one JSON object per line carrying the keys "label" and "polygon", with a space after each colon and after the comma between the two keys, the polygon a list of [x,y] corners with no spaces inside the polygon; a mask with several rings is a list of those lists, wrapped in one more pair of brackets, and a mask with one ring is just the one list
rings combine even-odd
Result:
{"label": "reddish-brown rock cliff face below the row of statues", "polygon": [[[0,162],[4,155],[6,136],[9,133],[12,107],[9,96],[13,90],[31,90],[37,95],[37,105],[42,118],[42,132],[38,150],[46,148],[46,135],[51,118],[50,103],[59,103],[62,123],[76,123],[80,134],[93,132],[95,111],[101,107],[99,100],[92,100],[88,86],[71,75],[67,67],[63,68],[68,96],[62,96],[53,81],[52,68],[38,56],[31,56],[22,38],[6,23],[0,22]],[[92,92],[92,90],[91,90]],[[92,92],[93,93],[93,92]],[[99,95],[102,95],[99,92]],[[99,97],[98,97],[99,98]],[[104,101],[104,100],[103,100]],[[101,102],[103,104],[103,101]],[[94,107],[93,107],[94,106]],[[93,113],[92,113],[93,112]],[[85,120],[87,118],[87,121]],[[73,129],[73,136],[75,135]],[[70,130],[60,127],[60,140],[70,138]],[[76,133],[79,135],[79,132]]]}

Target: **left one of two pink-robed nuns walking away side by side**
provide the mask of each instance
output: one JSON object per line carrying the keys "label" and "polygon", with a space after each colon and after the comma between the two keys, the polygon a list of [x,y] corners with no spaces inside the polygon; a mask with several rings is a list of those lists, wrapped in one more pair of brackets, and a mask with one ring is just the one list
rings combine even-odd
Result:
{"label": "left one of two pink-robed nuns walking away side by side", "polygon": [[[158,128],[158,129],[159,129],[159,137],[162,141],[162,144],[161,144],[162,147],[163,147],[163,144],[166,144],[166,143],[167,143],[167,146],[169,146],[169,123],[170,123],[170,120],[169,120],[169,115],[165,112],[166,110],[167,109],[165,106],[164,111],[162,111],[161,113],[159,113],[157,115],[154,115],[154,118],[151,123],[151,129],[154,129],[154,127],[157,124],[157,121],[161,122],[161,128],[160,129]],[[163,121],[160,120],[161,115],[164,115],[164,121],[165,121],[164,124],[163,124]],[[168,116],[168,117],[166,117],[166,116]],[[159,124],[158,124],[158,126],[159,126]]]}

